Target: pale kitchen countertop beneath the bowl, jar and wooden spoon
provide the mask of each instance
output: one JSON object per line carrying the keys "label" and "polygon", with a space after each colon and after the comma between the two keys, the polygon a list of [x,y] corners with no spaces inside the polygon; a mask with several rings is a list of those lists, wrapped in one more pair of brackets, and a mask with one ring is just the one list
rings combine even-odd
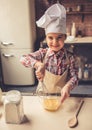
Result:
{"label": "pale kitchen countertop beneath the bowl, jar and wooden spoon", "polygon": [[[42,107],[39,97],[23,96],[24,113],[28,119],[22,124],[5,123],[3,105],[0,106],[1,130],[71,130],[67,125],[73,116],[80,97],[69,97],[56,112],[47,111]],[[92,98],[84,98],[84,104],[78,115],[79,124],[74,130],[92,130]]]}

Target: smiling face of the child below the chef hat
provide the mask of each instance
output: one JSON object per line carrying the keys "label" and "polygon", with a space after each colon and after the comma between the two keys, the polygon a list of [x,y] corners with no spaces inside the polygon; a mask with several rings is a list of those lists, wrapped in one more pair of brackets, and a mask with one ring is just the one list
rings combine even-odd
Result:
{"label": "smiling face of the child below the chef hat", "polygon": [[55,52],[63,48],[65,39],[66,35],[61,33],[48,33],[46,35],[48,47]]}

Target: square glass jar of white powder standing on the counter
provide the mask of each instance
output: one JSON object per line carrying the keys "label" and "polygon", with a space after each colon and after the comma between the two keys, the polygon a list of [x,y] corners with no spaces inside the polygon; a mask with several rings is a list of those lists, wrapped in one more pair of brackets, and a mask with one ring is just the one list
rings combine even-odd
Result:
{"label": "square glass jar of white powder standing on the counter", "polygon": [[4,112],[6,123],[20,124],[23,121],[23,100],[19,91],[7,92],[4,100]]}

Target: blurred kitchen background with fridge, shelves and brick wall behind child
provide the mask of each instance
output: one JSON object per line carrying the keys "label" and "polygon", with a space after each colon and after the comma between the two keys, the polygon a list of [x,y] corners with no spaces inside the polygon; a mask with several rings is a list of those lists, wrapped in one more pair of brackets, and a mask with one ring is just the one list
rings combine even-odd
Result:
{"label": "blurred kitchen background with fridge, shelves and brick wall behind child", "polygon": [[35,21],[56,2],[66,8],[68,38],[65,46],[77,54],[79,63],[80,81],[73,94],[92,95],[91,0],[0,0],[0,83],[3,91],[35,90],[34,70],[26,69],[19,59],[25,53],[46,46],[44,31],[36,28]]}

